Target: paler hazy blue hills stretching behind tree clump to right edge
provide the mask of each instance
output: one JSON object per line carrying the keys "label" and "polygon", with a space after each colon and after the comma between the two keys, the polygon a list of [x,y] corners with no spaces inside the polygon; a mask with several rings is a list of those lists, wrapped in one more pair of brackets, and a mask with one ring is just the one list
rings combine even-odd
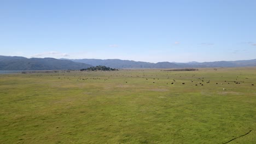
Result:
{"label": "paler hazy blue hills stretching behind tree clump to right edge", "polygon": [[136,62],[121,59],[70,59],[74,62],[86,63],[91,65],[104,65],[111,68],[213,68],[213,67],[255,67],[256,59],[244,61],[218,61],[218,62]]}

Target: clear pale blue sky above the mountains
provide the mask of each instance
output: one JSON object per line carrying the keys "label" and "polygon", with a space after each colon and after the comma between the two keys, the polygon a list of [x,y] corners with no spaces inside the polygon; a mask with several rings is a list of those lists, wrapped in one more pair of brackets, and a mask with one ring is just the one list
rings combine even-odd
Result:
{"label": "clear pale blue sky above the mountains", "polygon": [[0,55],[255,59],[256,1],[0,0]]}

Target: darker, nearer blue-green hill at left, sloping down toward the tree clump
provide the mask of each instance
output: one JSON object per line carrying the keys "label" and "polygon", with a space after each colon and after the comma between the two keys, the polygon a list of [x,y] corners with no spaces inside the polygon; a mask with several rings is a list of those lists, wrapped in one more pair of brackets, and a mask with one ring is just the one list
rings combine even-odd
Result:
{"label": "darker, nearer blue-green hill at left, sloping down toward the tree clump", "polygon": [[0,56],[0,70],[79,70],[92,65],[55,58]]}

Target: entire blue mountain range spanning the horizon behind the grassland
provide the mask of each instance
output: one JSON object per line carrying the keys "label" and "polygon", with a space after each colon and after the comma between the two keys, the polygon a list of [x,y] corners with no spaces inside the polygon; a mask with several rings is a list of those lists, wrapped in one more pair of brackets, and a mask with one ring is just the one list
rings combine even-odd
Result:
{"label": "entire blue mountain range spanning the horizon behind the grassland", "polygon": [[256,59],[217,62],[136,62],[121,59],[55,59],[0,56],[0,70],[78,70],[103,65],[116,69],[256,67]]}

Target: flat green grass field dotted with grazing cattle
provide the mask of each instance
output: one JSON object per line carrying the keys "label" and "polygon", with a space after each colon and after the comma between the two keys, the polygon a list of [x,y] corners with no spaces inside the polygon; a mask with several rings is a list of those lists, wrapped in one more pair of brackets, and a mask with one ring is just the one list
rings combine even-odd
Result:
{"label": "flat green grass field dotted with grazing cattle", "polygon": [[256,143],[252,84],[256,68],[2,74],[0,143]]}

